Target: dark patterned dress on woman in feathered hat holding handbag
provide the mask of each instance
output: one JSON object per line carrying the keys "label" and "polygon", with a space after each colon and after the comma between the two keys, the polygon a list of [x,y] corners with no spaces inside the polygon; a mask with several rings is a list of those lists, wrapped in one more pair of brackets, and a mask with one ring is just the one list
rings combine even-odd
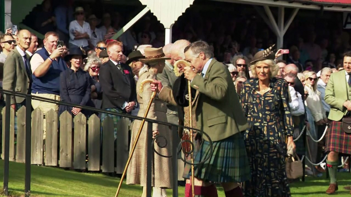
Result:
{"label": "dark patterned dress on woman in feathered hat holding handbag", "polygon": [[257,92],[258,79],[249,80],[241,94],[250,127],[244,134],[251,179],[243,184],[245,196],[291,196],[285,168],[286,137],[293,135],[289,90],[273,78],[270,90]]}

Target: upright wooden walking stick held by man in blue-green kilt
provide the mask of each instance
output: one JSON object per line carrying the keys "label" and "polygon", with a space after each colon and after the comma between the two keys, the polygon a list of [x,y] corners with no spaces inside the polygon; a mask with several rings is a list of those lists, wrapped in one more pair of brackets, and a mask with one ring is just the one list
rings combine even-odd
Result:
{"label": "upright wooden walking stick held by man in blue-green kilt", "polygon": [[[185,66],[189,66],[190,67],[190,63],[185,61],[185,60],[178,60],[176,63],[174,63],[174,68],[177,67],[178,64],[184,64]],[[191,86],[190,86],[190,81],[188,81],[188,101],[189,101],[189,127],[192,128],[192,97],[191,97]],[[190,129],[189,131],[189,135],[190,135],[190,141],[193,144],[193,140],[192,140],[192,129]],[[191,149],[193,149],[194,147],[192,146]],[[193,157],[193,150],[191,150],[191,154],[190,154],[190,158],[191,158],[191,163],[194,163],[194,157]],[[192,197],[194,197],[195,192],[194,192],[194,165],[191,165],[191,191],[192,191]]]}

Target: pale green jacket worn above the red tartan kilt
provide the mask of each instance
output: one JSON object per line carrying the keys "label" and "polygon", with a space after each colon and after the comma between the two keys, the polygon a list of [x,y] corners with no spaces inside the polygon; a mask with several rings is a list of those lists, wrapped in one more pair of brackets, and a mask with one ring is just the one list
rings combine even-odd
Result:
{"label": "pale green jacket worn above the red tartan kilt", "polygon": [[332,73],[325,88],[325,102],[331,106],[328,119],[340,121],[347,110],[343,106],[344,102],[351,98],[351,89],[346,82],[344,70]]}

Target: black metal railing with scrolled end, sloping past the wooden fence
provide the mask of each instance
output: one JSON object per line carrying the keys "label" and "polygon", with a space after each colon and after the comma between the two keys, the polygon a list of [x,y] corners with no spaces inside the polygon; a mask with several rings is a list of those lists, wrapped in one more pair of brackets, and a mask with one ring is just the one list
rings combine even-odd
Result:
{"label": "black metal railing with scrolled end, sloping past the wooden fence", "polygon": [[[71,103],[66,103],[66,102],[62,102],[62,101],[56,101],[56,100],[51,100],[51,99],[46,99],[40,96],[35,96],[35,95],[30,95],[30,94],[23,94],[23,93],[19,93],[19,92],[14,92],[14,91],[8,91],[8,90],[3,90],[0,89],[0,93],[5,95],[5,140],[3,140],[5,142],[4,144],[4,149],[5,149],[5,153],[4,153],[4,194],[5,196],[9,195],[9,189],[8,189],[8,183],[9,183],[9,149],[10,149],[10,100],[11,100],[11,96],[19,96],[19,97],[25,97],[25,106],[26,106],[26,151],[25,151],[25,196],[29,197],[30,196],[30,190],[31,190],[31,122],[32,122],[32,100],[37,100],[37,101],[42,101],[42,102],[49,102],[49,103],[54,103],[54,104],[58,104],[58,105],[65,105],[65,106],[70,106],[70,107],[78,107],[84,110],[90,110],[90,111],[94,111],[94,112],[99,112],[99,113],[105,113],[105,114],[110,114],[110,115],[116,115],[116,116],[121,116],[121,117],[126,117],[126,118],[131,118],[131,119],[137,119],[137,120],[143,120],[145,119],[145,121],[147,121],[148,124],[148,133],[147,133],[147,139],[148,142],[147,144],[149,144],[147,146],[147,162],[146,162],[146,171],[147,171],[147,185],[146,185],[146,193],[147,196],[151,196],[151,162],[152,162],[152,158],[153,158],[153,152],[157,153],[158,155],[162,156],[162,157],[172,157],[172,192],[173,192],[173,196],[177,197],[178,196],[178,157],[177,155],[180,153],[181,148],[182,148],[182,143],[183,142],[190,142],[190,140],[179,140],[179,136],[178,136],[178,132],[172,132],[172,155],[171,156],[164,156],[159,154],[158,152],[156,152],[156,150],[153,148],[153,143],[155,142],[156,138],[152,139],[152,124],[160,124],[160,125],[165,125],[168,126],[172,129],[170,129],[170,131],[178,131],[178,128],[182,128],[182,129],[188,129],[188,130],[193,130],[196,132],[200,132],[202,134],[204,134],[208,140],[211,142],[211,139],[209,138],[209,136],[198,130],[198,129],[194,129],[194,128],[189,128],[189,127],[185,127],[185,126],[180,126],[180,125],[175,125],[175,124],[171,124],[169,122],[163,122],[163,121],[157,121],[157,120],[153,120],[153,119],[149,119],[149,118],[143,118],[143,117],[139,117],[139,116],[133,116],[133,115],[129,115],[129,114],[123,114],[123,113],[117,113],[117,112],[111,112],[111,111],[107,111],[107,110],[102,110],[102,109],[97,109],[94,107],[88,107],[88,106],[82,106],[82,105],[74,105]],[[162,136],[158,136],[158,137],[162,137]],[[167,143],[167,142],[166,142]],[[193,150],[193,144],[191,144],[191,150]],[[159,145],[160,146],[160,145]],[[161,146],[160,146],[161,147]],[[163,147],[163,146],[162,146]],[[161,148],[162,148],[161,147]],[[212,147],[211,147],[212,150]],[[202,162],[205,162],[206,160],[208,160],[208,158],[204,159]],[[190,163],[188,161],[186,161],[186,159],[182,160],[190,165],[198,165],[200,163]],[[117,185],[116,185],[116,189],[117,189]]]}

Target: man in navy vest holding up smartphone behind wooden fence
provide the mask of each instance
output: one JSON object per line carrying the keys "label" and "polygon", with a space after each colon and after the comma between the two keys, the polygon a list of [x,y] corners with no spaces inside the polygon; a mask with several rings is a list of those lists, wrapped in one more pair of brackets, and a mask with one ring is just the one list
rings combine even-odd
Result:
{"label": "man in navy vest holding up smartphone behind wooden fence", "polygon": [[[62,58],[64,49],[58,47],[58,34],[48,32],[45,34],[44,47],[35,52],[31,59],[33,84],[32,95],[45,97],[60,101],[60,73],[68,69],[67,64]],[[60,43],[63,45],[63,43]],[[48,102],[32,100],[33,109],[39,108],[43,114],[50,109],[58,111],[58,105]],[[44,139],[46,134],[46,121],[44,121]]]}

